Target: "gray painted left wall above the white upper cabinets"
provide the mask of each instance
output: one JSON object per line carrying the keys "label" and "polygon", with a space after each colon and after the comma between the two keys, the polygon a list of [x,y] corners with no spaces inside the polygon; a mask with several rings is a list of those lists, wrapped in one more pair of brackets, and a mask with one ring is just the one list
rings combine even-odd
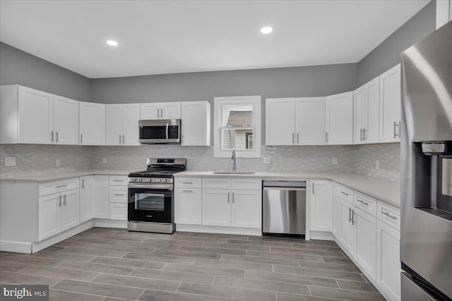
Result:
{"label": "gray painted left wall above the white upper cabinets", "polygon": [[0,42],[0,84],[24,85],[63,97],[91,101],[89,78]]}

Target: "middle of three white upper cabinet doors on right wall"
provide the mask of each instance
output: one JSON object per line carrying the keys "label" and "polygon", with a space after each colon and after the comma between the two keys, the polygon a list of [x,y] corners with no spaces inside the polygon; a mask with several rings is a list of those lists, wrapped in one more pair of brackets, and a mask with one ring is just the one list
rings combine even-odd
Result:
{"label": "middle of three white upper cabinet doors on right wall", "polygon": [[366,143],[378,143],[380,140],[380,77],[364,85],[367,105],[367,128],[364,130]]}

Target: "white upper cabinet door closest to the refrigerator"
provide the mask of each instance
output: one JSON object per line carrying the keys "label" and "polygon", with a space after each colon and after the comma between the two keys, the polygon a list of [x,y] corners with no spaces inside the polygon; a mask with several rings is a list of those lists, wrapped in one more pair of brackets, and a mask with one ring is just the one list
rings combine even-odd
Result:
{"label": "white upper cabinet door closest to the refrigerator", "polygon": [[400,64],[380,75],[380,142],[400,141]]}

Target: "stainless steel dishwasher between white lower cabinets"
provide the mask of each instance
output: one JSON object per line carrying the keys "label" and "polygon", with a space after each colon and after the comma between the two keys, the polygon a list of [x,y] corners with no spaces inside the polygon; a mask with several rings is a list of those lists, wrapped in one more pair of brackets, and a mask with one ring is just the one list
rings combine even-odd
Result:
{"label": "stainless steel dishwasher between white lower cabinets", "polygon": [[306,182],[263,181],[262,234],[304,238]]}

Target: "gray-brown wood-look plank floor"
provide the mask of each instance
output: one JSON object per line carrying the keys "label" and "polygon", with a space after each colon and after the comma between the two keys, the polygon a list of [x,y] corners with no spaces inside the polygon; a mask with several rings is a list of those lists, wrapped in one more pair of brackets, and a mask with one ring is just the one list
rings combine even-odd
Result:
{"label": "gray-brown wood-look plank floor", "polygon": [[50,300],[384,300],[335,242],[91,228],[35,254],[0,252],[0,283]]}

